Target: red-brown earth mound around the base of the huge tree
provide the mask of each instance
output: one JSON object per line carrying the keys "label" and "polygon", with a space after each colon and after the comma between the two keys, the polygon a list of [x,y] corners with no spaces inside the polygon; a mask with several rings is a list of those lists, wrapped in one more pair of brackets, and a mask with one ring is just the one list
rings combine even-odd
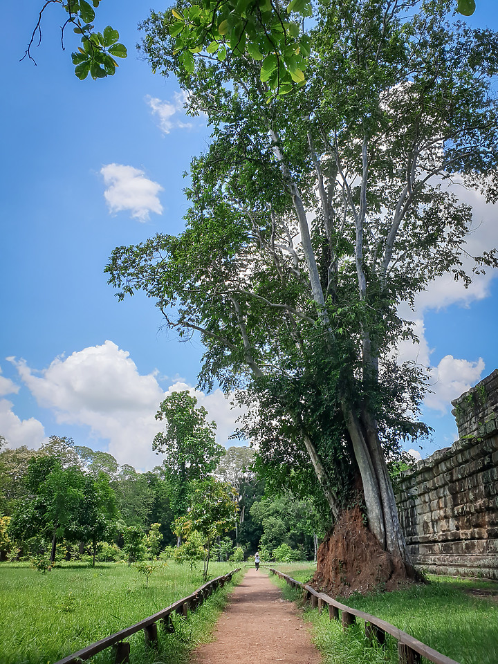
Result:
{"label": "red-brown earth mound around the base of the huge tree", "polygon": [[420,576],[400,556],[384,551],[363,522],[358,506],[345,510],[317,554],[311,585],[332,597],[394,591]]}

